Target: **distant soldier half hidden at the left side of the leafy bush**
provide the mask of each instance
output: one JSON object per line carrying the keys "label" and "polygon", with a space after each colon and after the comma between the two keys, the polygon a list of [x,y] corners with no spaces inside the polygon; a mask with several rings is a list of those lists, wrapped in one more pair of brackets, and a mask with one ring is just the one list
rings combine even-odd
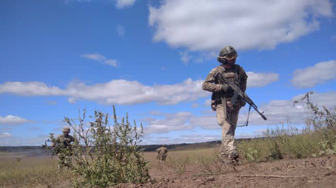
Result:
{"label": "distant soldier half hidden at the left side of the leafy bush", "polygon": [[[55,141],[52,142],[51,147],[56,147],[56,154],[58,156],[58,169],[62,167],[69,167],[71,165],[71,142],[75,141],[75,138],[70,136],[70,127],[63,127],[63,135],[58,136]],[[70,148],[69,152],[62,152],[62,148]]]}

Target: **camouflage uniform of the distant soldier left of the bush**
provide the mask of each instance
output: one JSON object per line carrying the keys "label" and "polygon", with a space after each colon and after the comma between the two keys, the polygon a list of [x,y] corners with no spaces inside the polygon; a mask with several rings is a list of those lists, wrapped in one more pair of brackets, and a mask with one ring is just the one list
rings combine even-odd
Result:
{"label": "camouflage uniform of the distant soldier left of the bush", "polygon": [[[58,147],[70,147],[70,143],[75,141],[75,138],[68,135],[60,135],[56,138],[56,144]],[[60,148],[59,148],[60,149]],[[58,169],[61,169],[62,167],[68,167],[71,165],[71,155],[70,154],[64,154],[62,152],[57,152],[57,162],[58,162]]]}

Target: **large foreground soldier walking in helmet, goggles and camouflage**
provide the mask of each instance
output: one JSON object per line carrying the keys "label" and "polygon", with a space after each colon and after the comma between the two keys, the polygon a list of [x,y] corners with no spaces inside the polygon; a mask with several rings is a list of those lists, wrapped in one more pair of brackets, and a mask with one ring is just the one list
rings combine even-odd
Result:
{"label": "large foreground soldier walking in helmet, goggles and camouflage", "polygon": [[210,71],[202,85],[204,90],[212,92],[211,108],[216,111],[218,124],[222,127],[221,157],[233,163],[238,162],[239,158],[234,144],[238,114],[246,102],[238,100],[232,105],[230,101],[234,91],[229,85],[221,83],[218,75],[222,74],[228,82],[237,85],[245,92],[247,75],[241,66],[235,64],[237,57],[237,51],[232,46],[223,48],[217,57],[221,65]]}

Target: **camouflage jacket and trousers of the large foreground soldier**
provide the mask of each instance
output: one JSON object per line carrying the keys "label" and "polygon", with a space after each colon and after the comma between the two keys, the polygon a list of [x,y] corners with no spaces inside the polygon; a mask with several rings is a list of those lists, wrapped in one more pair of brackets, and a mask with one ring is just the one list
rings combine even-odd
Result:
{"label": "camouflage jacket and trousers of the large foreground soldier", "polygon": [[[212,92],[211,108],[216,111],[218,124],[222,127],[220,153],[222,156],[229,156],[232,152],[236,151],[233,138],[236,130],[235,125],[237,124],[239,110],[245,105],[245,102],[238,100],[235,105],[232,105],[230,100],[234,92],[230,89],[227,92],[223,91],[223,83],[219,83],[217,74],[223,74],[227,81],[233,82],[243,91],[246,90],[247,75],[244,69],[237,64],[233,64],[230,69],[226,69],[222,64],[210,71],[202,85],[204,90]],[[222,105],[221,99],[226,101],[226,112],[224,112],[225,108]]]}

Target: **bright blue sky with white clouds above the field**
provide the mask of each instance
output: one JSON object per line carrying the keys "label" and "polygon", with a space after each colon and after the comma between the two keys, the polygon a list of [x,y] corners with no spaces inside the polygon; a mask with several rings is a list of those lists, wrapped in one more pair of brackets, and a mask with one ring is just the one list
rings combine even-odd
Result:
{"label": "bright blue sky with white clouds above the field", "polygon": [[235,137],[302,126],[292,104],[305,92],[336,104],[335,13],[331,0],[3,0],[0,145],[40,145],[64,116],[113,104],[143,122],[145,144],[220,139],[201,84],[228,45],[268,117],[252,113]]}

